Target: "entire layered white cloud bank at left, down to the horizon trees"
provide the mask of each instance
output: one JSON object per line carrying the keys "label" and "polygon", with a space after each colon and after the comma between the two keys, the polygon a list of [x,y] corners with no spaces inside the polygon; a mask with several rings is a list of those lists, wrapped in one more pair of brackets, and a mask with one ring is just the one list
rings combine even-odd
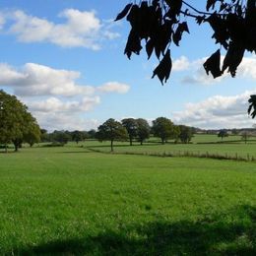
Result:
{"label": "entire layered white cloud bank at left, down to the horizon trees", "polygon": [[130,89],[119,82],[98,87],[78,85],[80,77],[80,72],[35,63],[20,69],[0,63],[0,87],[14,91],[29,106],[39,125],[50,130],[96,128],[96,122],[82,115],[100,103],[102,94],[126,94]]}

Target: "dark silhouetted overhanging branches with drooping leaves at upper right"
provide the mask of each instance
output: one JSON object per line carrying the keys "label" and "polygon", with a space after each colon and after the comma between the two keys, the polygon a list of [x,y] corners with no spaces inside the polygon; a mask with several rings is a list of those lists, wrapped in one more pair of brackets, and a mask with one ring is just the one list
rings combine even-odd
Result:
{"label": "dark silhouetted overhanging branches with drooping leaves at upper right", "polygon": [[[157,76],[161,84],[166,83],[172,68],[170,47],[179,46],[183,33],[189,33],[187,18],[196,20],[199,26],[207,23],[214,31],[217,51],[203,64],[208,75],[217,78],[227,70],[234,77],[245,51],[256,53],[256,0],[207,0],[206,11],[183,0],[135,1],[127,4],[115,21],[125,17],[131,30],[124,53],[129,59],[132,53],[139,55],[145,40],[148,59],[155,52],[160,60],[152,78]],[[222,67],[221,49],[225,51]],[[249,103],[248,113],[254,118],[256,96],[251,96]]]}

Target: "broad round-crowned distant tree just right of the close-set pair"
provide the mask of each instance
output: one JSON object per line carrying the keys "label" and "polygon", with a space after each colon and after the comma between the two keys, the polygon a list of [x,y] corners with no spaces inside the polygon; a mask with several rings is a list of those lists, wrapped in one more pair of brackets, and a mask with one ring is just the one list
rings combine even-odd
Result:
{"label": "broad round-crowned distant tree just right of the close-set pair", "polygon": [[159,137],[161,144],[164,144],[168,139],[176,139],[178,131],[175,129],[174,124],[165,117],[159,117],[153,121],[153,133]]}

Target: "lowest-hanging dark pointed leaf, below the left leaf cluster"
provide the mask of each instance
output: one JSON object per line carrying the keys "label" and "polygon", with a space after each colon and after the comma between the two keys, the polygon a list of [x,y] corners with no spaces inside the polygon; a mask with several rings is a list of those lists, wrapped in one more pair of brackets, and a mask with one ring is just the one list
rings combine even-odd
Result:
{"label": "lowest-hanging dark pointed leaf, below the left leaf cluster", "polygon": [[161,85],[163,85],[163,80],[166,83],[166,81],[169,78],[171,67],[172,63],[170,58],[170,50],[168,49],[165,55],[163,56],[162,60],[160,61],[160,65],[154,70],[152,78],[158,76]]}

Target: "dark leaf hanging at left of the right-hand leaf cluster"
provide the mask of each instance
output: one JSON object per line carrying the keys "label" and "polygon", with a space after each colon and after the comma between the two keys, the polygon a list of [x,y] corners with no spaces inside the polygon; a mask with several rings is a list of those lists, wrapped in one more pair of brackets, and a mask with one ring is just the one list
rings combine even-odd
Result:
{"label": "dark leaf hanging at left of the right-hand leaf cluster", "polygon": [[209,75],[209,72],[211,72],[214,78],[222,76],[220,49],[217,50],[214,54],[212,54],[210,58],[207,59],[207,61],[204,63],[204,68],[206,70],[207,75]]}

